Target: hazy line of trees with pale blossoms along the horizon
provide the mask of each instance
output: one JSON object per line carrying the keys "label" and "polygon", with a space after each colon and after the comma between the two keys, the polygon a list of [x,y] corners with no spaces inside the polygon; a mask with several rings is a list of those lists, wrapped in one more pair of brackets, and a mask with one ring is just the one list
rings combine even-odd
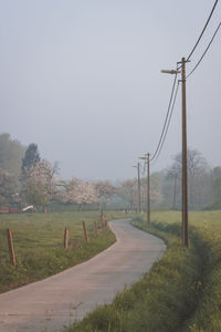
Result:
{"label": "hazy line of trees with pale blossoms along the horizon", "polygon": [[[188,149],[189,208],[221,208],[221,167],[211,168],[196,149]],[[146,208],[145,175],[140,179],[141,206]],[[64,180],[57,164],[42,159],[38,145],[28,147],[0,134],[0,206],[32,205],[48,210],[50,205],[96,206],[136,209],[138,198],[137,178],[118,184],[108,180],[85,181],[77,177]],[[181,154],[171,165],[150,176],[152,208],[181,208]]]}

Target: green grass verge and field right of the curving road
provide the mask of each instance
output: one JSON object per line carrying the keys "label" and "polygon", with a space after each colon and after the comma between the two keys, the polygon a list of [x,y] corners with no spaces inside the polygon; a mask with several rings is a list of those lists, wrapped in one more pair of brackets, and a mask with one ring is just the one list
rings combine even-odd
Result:
{"label": "green grass verge and field right of the curving road", "polygon": [[[189,249],[181,246],[180,220],[180,212],[152,212],[148,231],[167,242],[162,259],[112,304],[67,331],[220,332],[221,211],[190,214]],[[140,217],[134,222],[146,229]]]}

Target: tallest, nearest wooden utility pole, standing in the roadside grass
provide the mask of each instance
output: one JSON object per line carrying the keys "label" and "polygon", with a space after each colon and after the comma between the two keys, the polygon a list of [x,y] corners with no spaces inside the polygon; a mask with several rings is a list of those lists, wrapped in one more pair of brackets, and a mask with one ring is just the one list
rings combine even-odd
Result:
{"label": "tallest, nearest wooden utility pole, standing in the roadside grass", "polygon": [[189,247],[188,220],[188,155],[187,155],[187,103],[186,103],[186,59],[181,61],[182,82],[182,242]]}

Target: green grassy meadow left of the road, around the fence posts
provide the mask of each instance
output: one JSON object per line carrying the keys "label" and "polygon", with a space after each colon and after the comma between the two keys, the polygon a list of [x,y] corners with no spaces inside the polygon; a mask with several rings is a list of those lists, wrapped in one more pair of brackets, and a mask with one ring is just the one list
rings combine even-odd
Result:
{"label": "green grassy meadow left of the road, around the fence posts", "polygon": [[[107,212],[112,220],[125,217],[122,212]],[[97,211],[53,214],[21,214],[0,216],[0,292],[41,280],[85,261],[115,241],[110,230],[103,232]],[[86,243],[82,222],[87,225]],[[98,236],[95,236],[97,221]],[[69,249],[63,248],[64,228],[70,231]],[[7,228],[12,230],[17,266],[9,259]]]}

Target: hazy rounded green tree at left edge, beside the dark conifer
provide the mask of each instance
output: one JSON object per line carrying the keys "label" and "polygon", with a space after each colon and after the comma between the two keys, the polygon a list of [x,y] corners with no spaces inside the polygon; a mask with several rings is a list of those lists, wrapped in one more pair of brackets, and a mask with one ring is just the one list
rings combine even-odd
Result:
{"label": "hazy rounded green tree at left edge, beside the dark conifer", "polygon": [[0,134],[0,168],[19,177],[25,146],[11,139],[10,134]]}

